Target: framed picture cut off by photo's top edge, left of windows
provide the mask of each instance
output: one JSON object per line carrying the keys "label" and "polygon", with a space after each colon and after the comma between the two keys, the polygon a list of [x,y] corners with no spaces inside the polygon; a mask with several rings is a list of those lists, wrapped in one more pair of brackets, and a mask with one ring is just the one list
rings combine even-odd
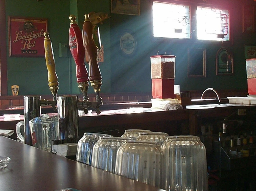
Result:
{"label": "framed picture cut off by photo's top edge, left of windows", "polygon": [[140,0],[111,0],[111,13],[140,15]]}

